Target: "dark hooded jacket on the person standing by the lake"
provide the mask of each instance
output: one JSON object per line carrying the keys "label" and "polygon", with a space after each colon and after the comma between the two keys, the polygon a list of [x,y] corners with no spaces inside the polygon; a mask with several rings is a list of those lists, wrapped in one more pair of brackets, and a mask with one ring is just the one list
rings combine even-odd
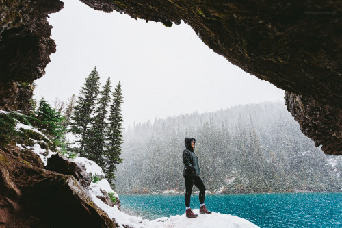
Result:
{"label": "dark hooded jacket on the person standing by the lake", "polygon": [[185,138],[185,150],[183,151],[183,176],[199,176],[200,175],[200,165],[198,164],[198,159],[194,153],[194,148],[192,148],[192,140],[196,143],[194,138]]}

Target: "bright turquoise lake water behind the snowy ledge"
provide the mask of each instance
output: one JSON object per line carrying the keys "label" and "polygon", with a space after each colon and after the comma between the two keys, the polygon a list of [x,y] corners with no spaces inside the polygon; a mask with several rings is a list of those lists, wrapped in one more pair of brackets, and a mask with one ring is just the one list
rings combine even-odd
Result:
{"label": "bright turquoise lake water behind the snowy ledge", "polygon": [[[153,220],[184,214],[184,196],[120,195],[122,211]],[[213,212],[250,220],[259,227],[342,228],[342,193],[286,193],[207,195],[205,204]],[[192,208],[199,208],[198,195]]]}

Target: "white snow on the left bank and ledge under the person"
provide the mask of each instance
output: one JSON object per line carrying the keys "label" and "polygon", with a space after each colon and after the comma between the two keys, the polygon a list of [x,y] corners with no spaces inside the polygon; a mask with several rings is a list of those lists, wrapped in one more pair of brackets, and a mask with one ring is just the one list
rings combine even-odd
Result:
{"label": "white snow on the left bank and ledge under the person", "polygon": [[[42,134],[42,132],[38,131],[34,127],[31,127],[29,125],[23,125],[22,123],[18,123],[16,125],[16,129],[20,131],[20,129],[30,129],[33,131],[38,132],[39,134]],[[43,134],[42,134],[43,135]],[[47,136],[44,136],[47,137]],[[53,152],[50,150],[42,149],[40,145],[37,143],[36,140],[34,140],[35,144],[33,147],[27,147],[23,146],[21,144],[17,144],[18,147],[21,147],[24,149],[24,147],[27,147],[27,149],[31,149],[35,153],[37,153],[41,158],[44,164],[47,164],[47,159],[51,157]],[[103,176],[103,170],[101,169],[98,164],[95,162],[92,162],[91,160],[88,160],[84,157],[76,157],[74,162],[79,162],[81,164],[84,164],[86,166],[86,171],[89,175],[98,175]],[[120,227],[123,227],[123,225],[129,225],[129,227],[133,228],[162,228],[162,227],[168,227],[168,228],[208,228],[208,227],[215,227],[215,228],[256,228],[257,225],[254,225],[253,223],[250,223],[248,220],[245,220],[244,218],[239,218],[237,216],[231,216],[228,214],[220,214],[215,213],[213,214],[199,214],[199,210],[194,210],[196,214],[198,214],[197,218],[187,218],[185,214],[182,215],[176,215],[176,216],[170,216],[170,217],[163,217],[158,218],[156,220],[147,220],[143,219],[141,217],[137,216],[131,216],[128,214],[125,214],[124,212],[121,212],[118,210],[118,206],[110,207],[109,205],[103,203],[100,199],[98,199],[96,196],[101,196],[103,193],[101,190],[105,190],[108,192],[113,192],[116,197],[118,195],[114,190],[111,189],[109,183],[107,180],[103,179],[101,181],[98,181],[97,183],[91,183],[90,186],[88,186],[88,191],[92,197],[92,200],[98,207],[100,207],[103,211],[105,211],[109,218],[115,218],[116,222],[120,225]],[[168,193],[172,193],[168,192]]]}

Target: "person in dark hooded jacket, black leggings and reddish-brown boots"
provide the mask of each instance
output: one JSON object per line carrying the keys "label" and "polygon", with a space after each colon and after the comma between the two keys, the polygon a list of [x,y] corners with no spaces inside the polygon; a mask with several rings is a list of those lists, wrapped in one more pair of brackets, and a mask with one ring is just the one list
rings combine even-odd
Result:
{"label": "person in dark hooded jacket, black leggings and reddish-brown boots", "polygon": [[190,199],[192,194],[192,187],[195,185],[200,190],[200,214],[211,214],[205,206],[205,184],[200,179],[200,165],[195,150],[194,138],[185,138],[185,150],[183,151],[183,176],[185,179],[185,210],[188,218],[196,218],[198,215],[194,214],[190,208]]}

